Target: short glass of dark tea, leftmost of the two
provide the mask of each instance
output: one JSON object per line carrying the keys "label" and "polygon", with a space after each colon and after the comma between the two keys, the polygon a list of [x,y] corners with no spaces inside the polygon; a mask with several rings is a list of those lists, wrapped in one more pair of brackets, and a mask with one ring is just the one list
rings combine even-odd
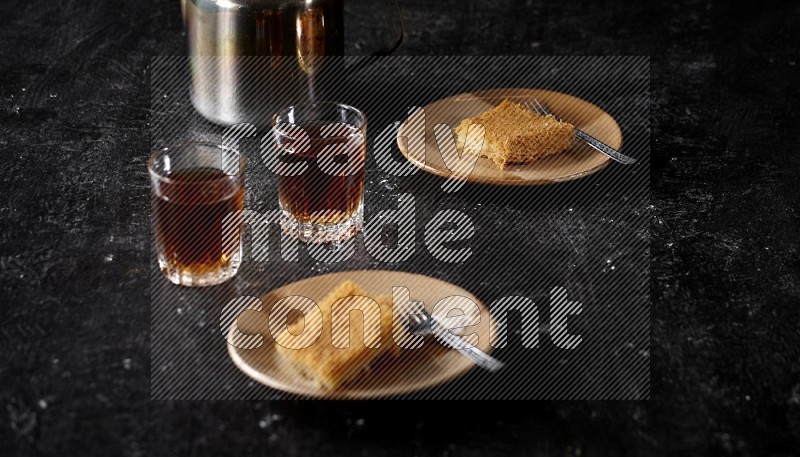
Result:
{"label": "short glass of dark tea, leftmost of the two", "polygon": [[211,286],[242,260],[245,160],[239,151],[187,142],[147,162],[158,264],[171,282]]}

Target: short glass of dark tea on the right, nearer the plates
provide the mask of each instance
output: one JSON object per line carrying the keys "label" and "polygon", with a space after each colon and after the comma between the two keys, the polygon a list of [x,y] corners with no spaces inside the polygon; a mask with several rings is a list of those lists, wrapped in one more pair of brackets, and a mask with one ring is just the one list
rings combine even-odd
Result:
{"label": "short glass of dark tea on the right, nearer the plates", "polygon": [[334,102],[290,106],[272,119],[283,230],[308,243],[337,243],[364,221],[367,120]]}

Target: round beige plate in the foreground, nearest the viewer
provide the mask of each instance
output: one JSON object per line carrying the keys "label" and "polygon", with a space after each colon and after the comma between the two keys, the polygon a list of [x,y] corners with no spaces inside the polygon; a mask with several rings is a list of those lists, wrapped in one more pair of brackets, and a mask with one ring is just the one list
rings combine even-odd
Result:
{"label": "round beige plate in the foreground, nearest the viewer", "polygon": [[[430,311],[440,299],[457,295],[474,301],[481,310],[480,323],[467,327],[465,333],[478,335],[477,346],[489,352],[489,315],[486,307],[468,291],[448,282],[428,276],[380,270],[361,270],[332,273],[303,279],[279,287],[263,297],[260,312],[245,311],[238,319],[238,330],[247,333],[261,333],[263,344],[256,349],[239,349],[228,345],[228,353],[247,376],[274,389],[293,394],[324,398],[376,398],[400,395],[448,382],[473,368],[472,362],[458,351],[444,348],[438,342],[426,337],[423,347],[404,350],[391,364],[372,368],[367,372],[372,378],[359,382],[357,387],[343,386],[335,391],[326,391],[313,381],[300,375],[292,366],[283,361],[274,349],[274,342],[267,330],[269,308],[278,300],[289,295],[303,295],[314,301],[325,295],[347,279],[355,281],[370,295],[391,295],[392,287],[404,286],[414,301],[423,301]],[[229,330],[229,340],[234,327]],[[330,329],[323,329],[330,331]],[[363,379],[363,378],[362,378]]]}

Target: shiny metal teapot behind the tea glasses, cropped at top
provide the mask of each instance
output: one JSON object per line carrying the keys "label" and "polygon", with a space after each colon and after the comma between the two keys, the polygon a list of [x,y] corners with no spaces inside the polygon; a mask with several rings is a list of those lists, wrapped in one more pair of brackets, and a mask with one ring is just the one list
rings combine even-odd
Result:
{"label": "shiny metal teapot behind the tea glasses, cropped at top", "polygon": [[[384,0],[392,41],[403,40],[397,0]],[[222,125],[264,126],[282,106],[324,98],[344,71],[343,0],[181,0],[192,104]]]}

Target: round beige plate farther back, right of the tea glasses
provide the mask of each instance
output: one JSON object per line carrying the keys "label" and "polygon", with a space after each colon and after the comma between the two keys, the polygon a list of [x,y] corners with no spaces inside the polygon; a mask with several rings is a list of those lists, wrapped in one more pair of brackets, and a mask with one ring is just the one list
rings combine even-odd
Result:
{"label": "round beige plate farther back, right of the tea glasses", "polygon": [[[464,118],[488,111],[506,98],[520,104],[536,98],[557,117],[607,145],[617,150],[622,145],[622,132],[614,118],[585,100],[540,89],[489,89],[444,98],[412,113],[397,130],[400,151],[415,166],[429,173],[451,177],[452,172],[439,152],[434,126],[447,124],[455,128]],[[417,142],[413,137],[414,132],[422,131],[422,125],[425,131],[424,147],[421,147],[423,140]],[[605,167],[608,161],[608,156],[576,140],[573,146],[560,154],[529,164],[509,166],[504,170],[498,170],[492,161],[481,157],[465,180],[504,186],[551,184],[590,175]]]}

